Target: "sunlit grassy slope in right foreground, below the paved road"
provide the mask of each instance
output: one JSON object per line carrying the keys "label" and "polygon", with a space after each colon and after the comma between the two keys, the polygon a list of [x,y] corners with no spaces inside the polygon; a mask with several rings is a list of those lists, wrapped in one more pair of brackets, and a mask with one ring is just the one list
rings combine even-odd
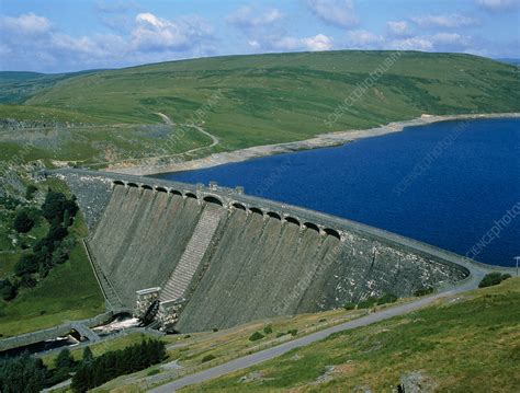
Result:
{"label": "sunlit grassy slope in right foreground, below the paved road", "polygon": [[[520,279],[342,332],[182,392],[392,391],[420,371],[436,392],[513,392],[520,377]],[[334,366],[325,382],[315,383]],[[260,372],[253,382],[239,382]]]}

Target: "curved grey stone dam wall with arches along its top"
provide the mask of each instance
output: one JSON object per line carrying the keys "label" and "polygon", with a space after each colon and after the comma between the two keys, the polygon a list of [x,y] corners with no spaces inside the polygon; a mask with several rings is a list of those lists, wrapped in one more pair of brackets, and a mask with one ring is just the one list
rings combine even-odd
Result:
{"label": "curved grey stone dam wall with arches along its top", "polygon": [[86,246],[109,305],[178,332],[404,297],[471,275],[459,255],[239,187],[52,174],[67,181],[86,216]]}

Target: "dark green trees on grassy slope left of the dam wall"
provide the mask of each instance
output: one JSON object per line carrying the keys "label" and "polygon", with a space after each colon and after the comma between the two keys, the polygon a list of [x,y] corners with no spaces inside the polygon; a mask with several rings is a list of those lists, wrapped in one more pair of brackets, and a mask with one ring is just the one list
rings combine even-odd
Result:
{"label": "dark green trees on grassy slope left of the dam wall", "polygon": [[[45,278],[54,266],[68,259],[76,243],[74,236],[67,236],[68,228],[74,223],[77,212],[78,205],[74,196],[68,199],[63,193],[48,190],[41,210],[37,211],[37,215],[48,221],[48,232],[33,245],[30,253],[21,256],[14,266],[15,279],[0,282],[4,300],[14,299],[20,286],[34,287],[37,278]],[[15,229],[19,232],[29,232],[34,226],[35,215],[30,209],[22,209],[14,219]]]}

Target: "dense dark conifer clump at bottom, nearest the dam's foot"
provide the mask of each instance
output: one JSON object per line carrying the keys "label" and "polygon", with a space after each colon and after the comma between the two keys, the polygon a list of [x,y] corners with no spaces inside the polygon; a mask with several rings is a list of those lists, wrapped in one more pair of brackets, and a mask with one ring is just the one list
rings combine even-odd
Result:
{"label": "dense dark conifer clump at bottom, nearest the dam's foot", "polygon": [[97,358],[83,358],[72,377],[71,388],[75,392],[87,392],[120,375],[160,363],[165,357],[165,343],[147,339]]}

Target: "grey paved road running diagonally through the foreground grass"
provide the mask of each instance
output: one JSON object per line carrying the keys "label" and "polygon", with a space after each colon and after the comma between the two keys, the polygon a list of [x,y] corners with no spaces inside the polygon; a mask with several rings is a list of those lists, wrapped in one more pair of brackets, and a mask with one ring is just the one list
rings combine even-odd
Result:
{"label": "grey paved road running diagonally through the foreground grass", "polygon": [[[184,388],[184,386],[188,386],[188,385],[191,385],[191,384],[195,384],[195,383],[205,382],[205,381],[208,381],[211,379],[227,374],[229,372],[238,371],[238,370],[241,370],[241,369],[261,363],[265,360],[273,359],[275,357],[279,357],[279,356],[290,351],[291,349],[299,348],[299,347],[309,345],[312,343],[318,342],[320,339],[324,339],[324,338],[328,337],[329,335],[331,335],[332,333],[349,331],[349,330],[361,327],[361,326],[366,326],[366,325],[370,325],[370,324],[375,323],[375,322],[380,322],[380,321],[383,321],[383,320],[391,319],[393,316],[398,316],[398,315],[409,313],[411,311],[416,311],[420,308],[423,308],[425,305],[431,304],[433,301],[436,301],[438,299],[445,298],[445,297],[449,297],[449,296],[452,296],[452,294],[455,294],[455,293],[460,293],[460,292],[476,288],[477,282],[478,282],[477,278],[482,277],[484,271],[478,271],[478,273],[479,274],[473,275],[472,278],[470,278],[465,282],[461,284],[456,288],[448,290],[445,292],[436,293],[436,294],[432,294],[432,296],[429,296],[429,297],[420,298],[420,299],[418,299],[416,301],[412,301],[412,302],[409,302],[409,303],[405,303],[405,304],[396,305],[396,307],[385,309],[385,310],[382,310],[382,311],[377,311],[377,312],[374,312],[374,313],[369,314],[366,316],[360,317],[358,320],[346,322],[346,323],[342,323],[340,325],[336,325],[336,326],[323,330],[320,332],[316,332],[316,333],[309,334],[307,336],[294,339],[292,342],[287,342],[287,343],[279,345],[279,346],[275,346],[275,347],[272,347],[272,348],[269,348],[269,349],[264,349],[262,351],[259,351],[259,352],[256,352],[256,354],[252,354],[252,355],[248,355],[246,357],[235,359],[235,360],[228,361],[228,362],[219,365],[219,366],[215,366],[211,369],[207,369],[207,370],[204,370],[204,371],[200,371],[200,372],[180,378],[180,379],[178,379],[173,382],[170,382],[170,383],[163,384],[159,388],[152,389],[152,390],[150,390],[150,392],[152,392],[152,393],[174,392],[178,389],[181,389],[181,388]],[[475,277],[475,276],[477,276],[477,277]]]}

